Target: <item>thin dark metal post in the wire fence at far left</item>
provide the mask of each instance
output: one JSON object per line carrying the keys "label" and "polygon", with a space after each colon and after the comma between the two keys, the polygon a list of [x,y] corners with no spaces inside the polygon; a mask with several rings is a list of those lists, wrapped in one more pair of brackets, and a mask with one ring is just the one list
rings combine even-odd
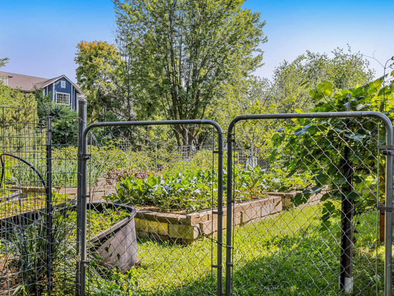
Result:
{"label": "thin dark metal post in the wire fence at far left", "polygon": [[52,118],[46,119],[46,210],[47,210],[47,237],[48,237],[48,291],[52,290]]}

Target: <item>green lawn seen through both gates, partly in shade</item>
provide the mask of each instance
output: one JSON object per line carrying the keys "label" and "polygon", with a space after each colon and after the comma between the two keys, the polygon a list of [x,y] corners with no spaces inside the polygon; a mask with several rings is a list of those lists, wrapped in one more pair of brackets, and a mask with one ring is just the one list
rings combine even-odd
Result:
{"label": "green lawn seen through both gates, partly in shade", "polygon": [[[332,220],[330,231],[319,230],[320,213],[321,205],[315,205],[235,228],[232,295],[340,295],[339,220]],[[363,214],[355,223],[360,234],[355,234],[358,241],[353,258],[354,295],[375,295],[376,283],[380,295],[384,249],[375,247],[376,214]],[[211,277],[215,248],[214,245],[212,254],[207,239],[188,246],[141,240],[138,256],[142,262],[138,268],[127,274],[105,275],[94,270],[93,265],[89,289],[92,295],[216,294],[216,269]]]}

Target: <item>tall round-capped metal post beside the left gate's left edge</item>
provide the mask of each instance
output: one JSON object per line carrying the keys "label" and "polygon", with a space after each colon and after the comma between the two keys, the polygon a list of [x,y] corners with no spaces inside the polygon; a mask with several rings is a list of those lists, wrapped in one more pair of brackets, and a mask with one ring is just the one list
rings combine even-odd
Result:
{"label": "tall round-capped metal post beside the left gate's left edge", "polygon": [[[83,133],[86,128],[86,107],[87,107],[87,101],[84,97],[80,97],[78,99],[78,175],[77,175],[77,242],[76,242],[76,253],[77,253],[77,258],[82,255],[81,252],[81,241],[82,237],[84,237],[85,242],[86,242],[86,223],[85,223],[85,232],[81,231],[81,225],[83,225],[82,222],[82,208],[83,205],[82,203],[85,203],[85,222],[86,222],[86,199],[82,198],[82,188],[85,187],[84,194],[86,195],[86,173],[85,173],[85,180],[82,179],[82,158],[81,153],[83,150]],[[85,165],[85,171],[86,171],[86,162],[84,163]],[[86,250],[85,250],[85,257],[86,257]],[[85,273],[85,268],[81,268],[81,261],[77,261],[77,266],[76,266],[77,272],[76,272],[76,281],[77,281],[77,295],[82,295],[82,282],[84,283],[84,273]],[[85,287],[83,287],[85,288]],[[84,291],[84,290],[83,290]]]}

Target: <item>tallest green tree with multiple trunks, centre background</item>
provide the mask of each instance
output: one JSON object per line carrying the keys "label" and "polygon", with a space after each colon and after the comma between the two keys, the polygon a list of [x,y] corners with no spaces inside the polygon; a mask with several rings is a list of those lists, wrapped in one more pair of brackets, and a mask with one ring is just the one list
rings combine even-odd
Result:
{"label": "tallest green tree with multiple trunks, centre background", "polygon": [[[243,0],[113,2],[118,36],[129,37],[123,44],[140,92],[138,113],[202,119],[232,73],[247,75],[262,65],[265,22],[242,9]],[[199,129],[176,125],[174,132],[178,145],[191,145]]]}

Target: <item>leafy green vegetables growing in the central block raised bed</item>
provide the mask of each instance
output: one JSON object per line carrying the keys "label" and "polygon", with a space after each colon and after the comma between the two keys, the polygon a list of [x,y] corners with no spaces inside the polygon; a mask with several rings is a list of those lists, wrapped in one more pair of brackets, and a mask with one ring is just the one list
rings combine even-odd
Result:
{"label": "leafy green vegetables growing in the central block raised bed", "polygon": [[[295,174],[293,178],[287,178],[286,172],[268,172],[260,167],[235,167],[233,176],[238,201],[267,196],[264,191],[296,190],[312,182],[308,174]],[[159,207],[162,211],[195,212],[210,208],[212,199],[214,206],[217,206],[217,183],[215,170],[179,170],[158,176],[150,174],[143,179],[131,176],[121,179],[116,185],[116,194],[106,199],[133,206]]]}

